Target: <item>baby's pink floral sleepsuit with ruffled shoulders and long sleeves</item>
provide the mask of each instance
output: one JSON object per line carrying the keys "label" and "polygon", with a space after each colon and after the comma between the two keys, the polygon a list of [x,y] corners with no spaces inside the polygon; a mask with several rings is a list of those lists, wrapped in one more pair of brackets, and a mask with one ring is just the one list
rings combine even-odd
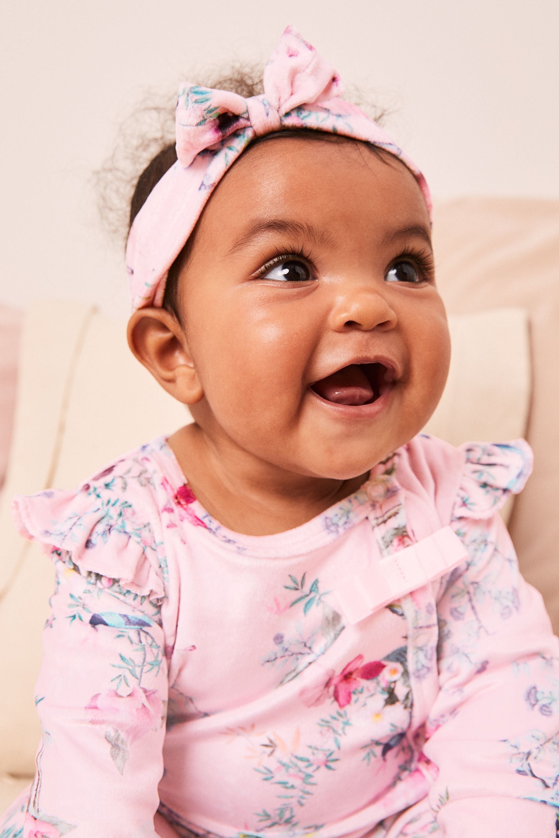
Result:
{"label": "baby's pink floral sleepsuit with ruffled shoulders and long sleeves", "polygon": [[[16,499],[57,587],[37,774],[2,838],[551,838],[558,641],[497,514],[530,468],[522,441],[420,435],[249,536],[159,437]],[[401,596],[379,607],[375,580]]]}

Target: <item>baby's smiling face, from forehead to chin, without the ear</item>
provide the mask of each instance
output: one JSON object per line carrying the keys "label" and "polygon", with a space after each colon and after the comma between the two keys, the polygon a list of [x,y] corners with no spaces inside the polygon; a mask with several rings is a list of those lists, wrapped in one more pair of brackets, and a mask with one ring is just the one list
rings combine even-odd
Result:
{"label": "baby's smiling face, from forehead to chin, without the ear", "polygon": [[411,173],[349,142],[268,140],[215,189],[179,277],[200,427],[346,479],[422,429],[450,345]]}

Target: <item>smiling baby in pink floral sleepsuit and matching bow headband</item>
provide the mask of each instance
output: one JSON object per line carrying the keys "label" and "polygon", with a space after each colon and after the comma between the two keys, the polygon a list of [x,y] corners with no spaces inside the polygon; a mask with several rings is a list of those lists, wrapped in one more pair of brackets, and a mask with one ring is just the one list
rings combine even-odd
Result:
{"label": "smiling baby in pink floral sleepsuit and matching bow headband", "polygon": [[425,179],[292,28],[264,91],[184,85],[132,201],[129,344],[194,423],[14,500],[57,587],[0,836],[551,838],[559,650],[498,514],[530,449],[420,433]]}

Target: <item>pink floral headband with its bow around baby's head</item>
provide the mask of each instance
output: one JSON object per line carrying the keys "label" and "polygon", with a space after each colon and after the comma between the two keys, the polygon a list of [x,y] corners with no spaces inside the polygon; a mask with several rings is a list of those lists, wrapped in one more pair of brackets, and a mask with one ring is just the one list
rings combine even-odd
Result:
{"label": "pink floral headband with its bow around baby's head", "polygon": [[417,179],[431,213],[427,182],[415,163],[355,105],[340,96],[339,75],[288,26],[264,68],[264,94],[184,84],[176,111],[178,160],[137,214],[127,242],[132,309],[161,306],[169,267],[179,256],[212,189],[255,137],[282,128],[344,134],[386,149]]}

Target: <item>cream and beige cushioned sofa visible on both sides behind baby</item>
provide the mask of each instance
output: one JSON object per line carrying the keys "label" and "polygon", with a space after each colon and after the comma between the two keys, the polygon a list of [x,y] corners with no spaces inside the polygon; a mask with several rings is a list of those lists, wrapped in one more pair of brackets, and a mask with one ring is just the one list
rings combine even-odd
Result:
{"label": "cream and beige cushioned sofa visible on both sides behind baby", "polygon": [[[464,199],[435,216],[453,362],[427,430],[458,444],[526,435],[534,477],[505,511],[528,579],[559,618],[559,204]],[[70,487],[189,414],[132,358],[124,323],[79,303],[40,303],[23,323],[18,400],[0,506],[0,812],[29,782],[39,721],[34,680],[53,572],[13,529],[13,494]],[[545,366],[543,370],[541,367]],[[559,623],[559,619],[557,620]]]}

